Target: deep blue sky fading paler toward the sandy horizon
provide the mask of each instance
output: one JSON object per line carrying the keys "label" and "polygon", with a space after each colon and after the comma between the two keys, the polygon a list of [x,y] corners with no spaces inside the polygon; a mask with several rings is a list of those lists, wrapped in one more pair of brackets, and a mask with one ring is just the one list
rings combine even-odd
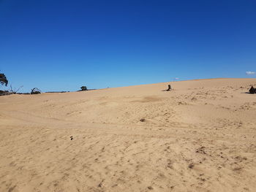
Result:
{"label": "deep blue sky fading paler toward the sandy horizon", "polygon": [[22,91],[255,77],[255,0],[0,0],[0,28]]}

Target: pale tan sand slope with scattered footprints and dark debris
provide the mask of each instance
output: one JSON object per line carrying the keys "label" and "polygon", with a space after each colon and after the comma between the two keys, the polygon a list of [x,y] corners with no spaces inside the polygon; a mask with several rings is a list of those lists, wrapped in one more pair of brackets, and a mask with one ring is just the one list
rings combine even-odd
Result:
{"label": "pale tan sand slope with scattered footprints and dark debris", "polygon": [[168,84],[1,96],[0,191],[255,191],[256,79]]}

